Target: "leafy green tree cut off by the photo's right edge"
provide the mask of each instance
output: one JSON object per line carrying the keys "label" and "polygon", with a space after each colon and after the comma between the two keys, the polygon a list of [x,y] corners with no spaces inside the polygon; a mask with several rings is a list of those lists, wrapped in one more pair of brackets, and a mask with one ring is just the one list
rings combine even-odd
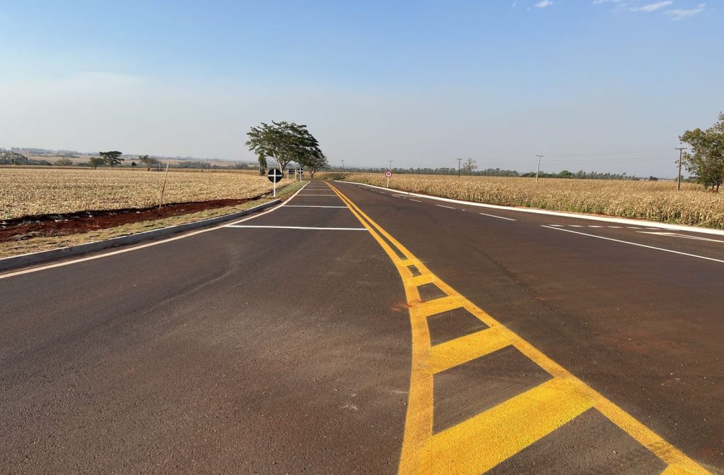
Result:
{"label": "leafy green tree cut off by the photo's right edge", "polygon": [[687,130],[679,140],[691,148],[681,158],[686,170],[704,189],[718,192],[724,182],[724,113],[709,129]]}

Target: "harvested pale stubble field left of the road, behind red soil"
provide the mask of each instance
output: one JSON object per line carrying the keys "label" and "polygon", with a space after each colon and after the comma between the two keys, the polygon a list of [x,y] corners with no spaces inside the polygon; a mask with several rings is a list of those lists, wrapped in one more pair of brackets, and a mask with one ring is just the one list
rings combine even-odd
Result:
{"label": "harvested pale stubble field left of the road, behind red soil", "polygon": [[[158,205],[163,181],[163,173],[146,170],[0,168],[0,219]],[[169,171],[164,202],[239,200],[267,192],[271,182],[257,174]]]}

